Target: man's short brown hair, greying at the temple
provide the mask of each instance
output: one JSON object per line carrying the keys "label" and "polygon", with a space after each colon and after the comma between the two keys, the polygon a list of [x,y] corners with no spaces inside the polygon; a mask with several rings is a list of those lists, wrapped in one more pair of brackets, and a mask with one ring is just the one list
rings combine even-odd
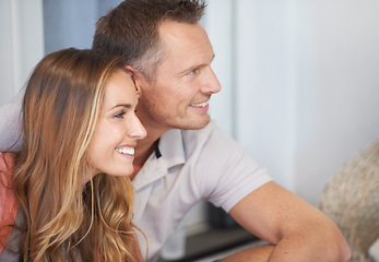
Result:
{"label": "man's short brown hair, greying at the temple", "polygon": [[205,7],[203,0],[126,0],[98,20],[92,49],[121,56],[152,78],[163,59],[159,23],[197,23]]}

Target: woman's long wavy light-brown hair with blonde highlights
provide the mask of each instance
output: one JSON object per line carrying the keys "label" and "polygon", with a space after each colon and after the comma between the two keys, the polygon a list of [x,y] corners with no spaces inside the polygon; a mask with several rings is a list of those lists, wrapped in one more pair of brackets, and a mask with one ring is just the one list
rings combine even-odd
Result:
{"label": "woman's long wavy light-brown hair with blonde highlights", "polygon": [[115,70],[126,70],[120,57],[71,48],[46,56],[27,82],[13,180],[26,216],[22,261],[138,261],[130,179],[82,183]]}

